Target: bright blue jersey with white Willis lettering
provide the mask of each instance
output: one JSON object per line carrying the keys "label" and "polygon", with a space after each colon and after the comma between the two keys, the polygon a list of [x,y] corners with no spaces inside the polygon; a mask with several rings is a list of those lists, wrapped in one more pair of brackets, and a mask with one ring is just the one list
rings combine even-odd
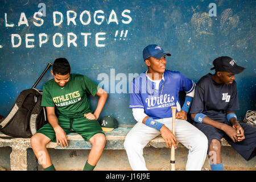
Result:
{"label": "bright blue jersey with white Willis lettering", "polygon": [[[195,83],[180,72],[166,69],[159,89],[147,78],[146,72],[134,78],[130,85],[130,108],[143,108],[153,119],[172,117],[171,106],[180,108],[179,92],[193,92]],[[178,109],[179,110],[179,109]]]}

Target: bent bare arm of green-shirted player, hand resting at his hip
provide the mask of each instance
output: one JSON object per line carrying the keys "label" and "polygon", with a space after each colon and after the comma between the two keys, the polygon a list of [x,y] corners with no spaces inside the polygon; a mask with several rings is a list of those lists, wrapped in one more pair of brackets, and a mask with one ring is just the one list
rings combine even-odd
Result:
{"label": "bent bare arm of green-shirted player, hand resting at his hip", "polygon": [[96,95],[99,97],[98,99],[98,105],[96,107],[96,110],[94,111],[94,113],[86,113],[84,114],[84,117],[87,118],[87,119],[98,119],[98,117],[100,116],[100,113],[106,103],[106,100],[108,98],[108,93],[102,89],[102,88],[99,88],[98,89],[98,92],[96,93]]}

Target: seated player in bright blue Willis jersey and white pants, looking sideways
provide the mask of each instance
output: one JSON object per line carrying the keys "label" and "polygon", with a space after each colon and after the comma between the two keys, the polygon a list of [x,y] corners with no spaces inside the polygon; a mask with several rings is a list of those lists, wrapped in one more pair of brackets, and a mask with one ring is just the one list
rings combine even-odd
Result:
{"label": "seated player in bright blue Willis jersey and white pants, looking sideways", "polygon": [[[148,170],[143,158],[143,148],[153,138],[162,135],[166,146],[177,141],[188,148],[186,170],[201,170],[207,156],[207,137],[191,123],[187,113],[193,100],[195,83],[180,72],[166,69],[163,48],[151,44],[143,49],[143,59],[148,70],[134,78],[130,85],[130,108],[138,122],[127,134],[124,147],[133,170]],[[185,91],[184,105],[180,106],[179,92]],[[171,106],[177,106],[175,135],[172,133]]]}

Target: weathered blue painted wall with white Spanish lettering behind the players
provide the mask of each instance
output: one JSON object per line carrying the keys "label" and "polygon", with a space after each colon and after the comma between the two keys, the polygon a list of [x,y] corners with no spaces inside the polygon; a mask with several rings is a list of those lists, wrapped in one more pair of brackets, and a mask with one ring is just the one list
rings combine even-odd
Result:
{"label": "weathered blue painted wall with white Spanish lettering behind the players", "polygon": [[[44,3],[46,9],[38,7],[40,3]],[[209,16],[210,3],[216,4],[216,16]],[[128,109],[129,75],[146,71],[142,49],[153,43],[171,52],[172,56],[167,58],[167,69],[180,71],[196,82],[201,76],[213,73],[210,71],[213,59],[222,55],[233,57],[246,67],[236,76],[241,107],[237,115],[243,119],[247,110],[255,110],[255,1],[1,0],[0,5],[0,114],[5,117],[18,94],[31,88],[49,61],[53,63],[57,57],[66,57],[73,73],[85,74],[97,83],[103,81],[102,73],[106,73],[109,85],[105,84],[104,88],[109,92],[109,98],[101,117],[113,115],[119,124],[133,125],[136,122]],[[70,22],[68,25],[69,10],[75,12],[70,17],[76,14],[76,24]],[[33,18],[38,11],[45,13],[40,17],[43,23]],[[56,26],[53,24],[53,11],[63,14],[63,22]],[[88,12],[91,20],[86,14]],[[96,20],[95,12],[100,12],[96,14]],[[60,16],[56,15],[58,22]],[[41,26],[35,26],[35,23]],[[68,47],[70,32],[77,39],[76,45]],[[81,32],[90,33],[87,44]],[[96,35],[99,32],[97,45]],[[60,47],[53,44],[56,33],[63,36]],[[12,34],[20,36],[20,46],[15,47],[19,43],[16,37],[12,43]],[[48,37],[41,47],[39,35]],[[57,45],[60,44],[59,36],[55,40]],[[43,83],[51,78],[48,71],[37,88],[42,89]],[[111,85],[116,87],[115,91],[111,90]],[[90,98],[90,102],[95,109],[96,98]]]}

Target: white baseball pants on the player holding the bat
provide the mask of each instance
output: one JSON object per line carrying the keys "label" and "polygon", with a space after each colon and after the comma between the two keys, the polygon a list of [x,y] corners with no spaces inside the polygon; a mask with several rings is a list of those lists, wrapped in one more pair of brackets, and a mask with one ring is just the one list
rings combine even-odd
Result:
{"label": "white baseball pants on the player holding the bat", "polygon": [[[172,129],[172,118],[155,119]],[[123,143],[130,166],[135,171],[148,171],[143,158],[143,148],[157,137],[160,131],[138,122],[126,135]],[[200,171],[207,156],[208,139],[199,129],[183,119],[175,119],[175,137],[188,148],[187,171]]]}

